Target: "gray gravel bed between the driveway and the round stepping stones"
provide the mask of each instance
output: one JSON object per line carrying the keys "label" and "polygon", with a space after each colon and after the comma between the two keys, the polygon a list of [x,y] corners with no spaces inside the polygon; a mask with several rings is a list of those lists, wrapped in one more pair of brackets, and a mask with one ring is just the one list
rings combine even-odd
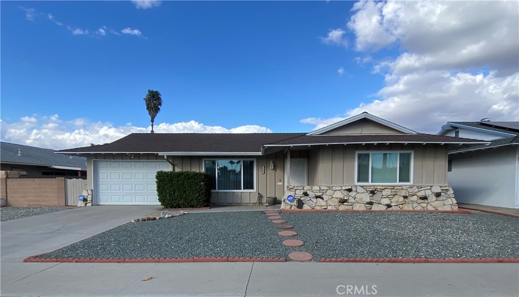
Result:
{"label": "gray gravel bed between the driveway and the round stepping stones", "polygon": [[127,223],[41,257],[286,258],[284,239],[261,211],[196,213]]}

